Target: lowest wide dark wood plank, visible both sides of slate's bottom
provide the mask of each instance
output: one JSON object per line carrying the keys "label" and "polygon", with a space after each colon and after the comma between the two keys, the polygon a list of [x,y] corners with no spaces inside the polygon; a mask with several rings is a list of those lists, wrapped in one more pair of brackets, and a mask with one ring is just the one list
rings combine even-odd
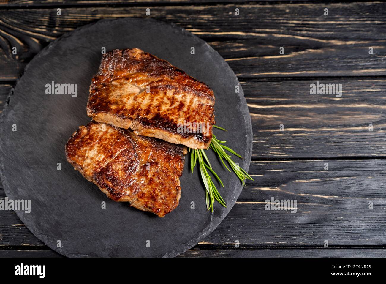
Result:
{"label": "lowest wide dark wood plank, visible both sides of slate's bottom", "polygon": [[[255,181],[247,182],[228,216],[199,245],[232,248],[238,240],[243,248],[323,248],[328,240],[330,247],[386,248],[386,160],[252,162],[249,173]],[[297,212],[265,210],[272,197],[296,199]],[[15,213],[0,211],[0,219],[0,248],[43,246]]]}

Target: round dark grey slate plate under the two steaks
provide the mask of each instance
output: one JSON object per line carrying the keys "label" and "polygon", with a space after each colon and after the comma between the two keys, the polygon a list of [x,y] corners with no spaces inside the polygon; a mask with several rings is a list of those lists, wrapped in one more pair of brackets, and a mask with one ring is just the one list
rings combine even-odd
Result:
{"label": "round dark grey slate plate under the two steaks", "polygon": [[[140,48],[168,60],[214,91],[220,139],[244,156],[249,168],[252,128],[237,77],[205,41],[176,26],[148,19],[101,20],[49,44],[27,65],[5,107],[1,130],[1,178],[8,199],[30,199],[31,211],[16,211],[29,230],[50,248],[69,257],[176,256],[210,234],[229,213],[242,185],[208,151],[225,188],[228,207],[206,210],[205,191],[189,157],[181,177],[179,206],[164,218],[108,199],[66,162],[64,145],[86,115],[88,88],[106,51]],[[195,54],[191,54],[191,47]],[[77,97],[47,95],[47,83],[78,84]],[[16,125],[16,131],[14,130]],[[61,170],[57,164],[61,163]],[[106,208],[102,209],[102,202]],[[194,209],[191,207],[194,202]],[[58,247],[60,240],[61,247]],[[149,242],[150,241],[150,242]],[[147,244],[150,243],[150,247]]]}

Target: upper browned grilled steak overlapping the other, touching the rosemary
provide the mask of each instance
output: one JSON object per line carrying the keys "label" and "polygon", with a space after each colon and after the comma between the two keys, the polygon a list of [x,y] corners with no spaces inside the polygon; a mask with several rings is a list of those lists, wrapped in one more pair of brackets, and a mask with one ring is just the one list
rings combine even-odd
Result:
{"label": "upper browned grilled steak overlapping the other, touching the rosemary", "polygon": [[213,91],[165,60],[141,49],[103,55],[90,86],[87,114],[95,121],[190,148],[208,148]]}

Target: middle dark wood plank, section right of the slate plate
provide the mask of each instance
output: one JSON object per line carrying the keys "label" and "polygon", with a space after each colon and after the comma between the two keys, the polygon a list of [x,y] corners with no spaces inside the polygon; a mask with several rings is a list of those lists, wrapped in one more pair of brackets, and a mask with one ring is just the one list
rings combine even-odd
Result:
{"label": "middle dark wood plank, section right of the slate plate", "polygon": [[[317,81],[342,84],[342,97],[311,95],[310,84]],[[384,79],[249,80],[241,84],[251,113],[254,159],[386,154]]]}

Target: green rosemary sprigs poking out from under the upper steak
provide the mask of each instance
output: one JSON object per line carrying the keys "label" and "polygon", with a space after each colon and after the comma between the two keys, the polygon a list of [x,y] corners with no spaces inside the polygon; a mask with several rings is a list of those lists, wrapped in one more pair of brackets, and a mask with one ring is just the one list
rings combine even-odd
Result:
{"label": "green rosemary sprigs poking out from under the upper steak", "polygon": [[[222,129],[223,131],[227,131],[219,126],[213,126],[218,129]],[[210,142],[209,148],[211,148],[220,158],[222,164],[225,166],[225,168],[230,172],[229,168],[225,164],[224,160],[228,162],[229,166],[232,168],[234,173],[237,175],[237,177],[241,180],[242,185],[245,185],[245,179],[253,180],[252,177],[245,172],[242,168],[239,167],[238,164],[236,164],[232,160],[232,156],[228,155],[226,151],[234,154],[235,156],[238,156],[239,158],[242,158],[239,154],[237,154],[234,150],[231,148],[225,146],[224,144],[227,141],[221,141],[216,138],[215,134],[213,134],[212,141]],[[209,159],[207,155],[205,154],[205,150],[203,149],[190,149],[190,168],[191,172],[193,173],[193,169],[196,166],[197,160],[198,165],[200,167],[200,175],[201,179],[205,186],[205,196],[207,201],[207,210],[211,210],[213,212],[213,203],[216,199],[222,206],[227,207],[225,204],[225,201],[222,199],[220,193],[218,192],[216,186],[213,184],[212,177],[209,175],[209,172],[212,173],[215,178],[217,179],[218,183],[224,187],[220,177],[218,177],[217,173],[215,173],[212,169],[212,165],[209,162]],[[209,172],[208,172],[209,170]]]}

